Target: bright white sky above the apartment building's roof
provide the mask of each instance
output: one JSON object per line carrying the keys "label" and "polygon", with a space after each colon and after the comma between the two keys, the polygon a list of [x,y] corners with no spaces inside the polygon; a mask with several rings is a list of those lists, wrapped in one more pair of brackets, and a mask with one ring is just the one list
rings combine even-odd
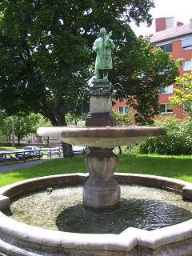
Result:
{"label": "bright white sky above the apartment building's roof", "polygon": [[132,30],[138,36],[140,34],[145,35],[147,33],[155,32],[155,18],[162,17],[174,17],[174,26],[177,22],[182,22],[184,24],[190,23],[190,18],[192,18],[192,1],[191,0],[154,0],[155,8],[150,10],[154,20],[152,26],[146,27],[145,23],[141,23],[140,27],[137,27],[133,23],[130,23]]}

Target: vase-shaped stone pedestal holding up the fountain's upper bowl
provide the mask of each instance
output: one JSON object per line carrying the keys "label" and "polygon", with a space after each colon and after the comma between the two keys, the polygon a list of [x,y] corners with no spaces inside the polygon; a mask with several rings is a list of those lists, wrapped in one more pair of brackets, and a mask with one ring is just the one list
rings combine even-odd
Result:
{"label": "vase-shaped stone pedestal holding up the fountain's upper bowl", "polygon": [[108,213],[120,208],[120,188],[114,180],[118,157],[113,149],[90,148],[86,168],[90,178],[83,188],[83,206],[95,213]]}

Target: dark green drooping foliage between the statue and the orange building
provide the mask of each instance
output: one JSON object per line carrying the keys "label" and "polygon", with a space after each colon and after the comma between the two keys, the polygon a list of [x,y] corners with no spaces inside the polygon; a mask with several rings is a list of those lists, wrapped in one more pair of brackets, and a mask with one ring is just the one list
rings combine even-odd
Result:
{"label": "dark green drooping foliage between the statue and the orange building", "polygon": [[139,63],[134,66],[134,73],[130,74],[124,86],[127,103],[137,110],[135,119],[142,125],[154,123],[154,116],[159,114],[159,89],[174,82],[181,64],[179,60],[175,62],[170,53],[160,48],[152,50],[153,47],[150,38],[138,43]]}

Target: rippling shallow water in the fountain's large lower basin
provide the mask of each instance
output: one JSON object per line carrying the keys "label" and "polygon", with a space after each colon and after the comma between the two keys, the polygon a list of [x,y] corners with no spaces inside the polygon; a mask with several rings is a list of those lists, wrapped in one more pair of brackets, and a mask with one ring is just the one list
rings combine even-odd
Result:
{"label": "rippling shallow water in the fountain's large lower basin", "polygon": [[67,186],[28,194],[11,204],[11,218],[33,226],[74,233],[120,234],[132,226],[155,230],[192,218],[192,203],[165,190],[120,185],[121,208],[94,214],[82,206],[82,186]]}

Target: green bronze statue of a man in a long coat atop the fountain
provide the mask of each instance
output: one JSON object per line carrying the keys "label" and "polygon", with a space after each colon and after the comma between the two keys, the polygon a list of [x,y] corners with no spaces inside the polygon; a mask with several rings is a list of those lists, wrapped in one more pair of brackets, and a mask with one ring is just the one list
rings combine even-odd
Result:
{"label": "green bronze statue of a man in a long coat atop the fountain", "polygon": [[114,42],[110,39],[112,32],[106,34],[106,29],[100,29],[100,37],[94,41],[93,50],[97,52],[95,62],[95,78],[108,79],[109,70],[113,68],[111,49],[114,49]]}

